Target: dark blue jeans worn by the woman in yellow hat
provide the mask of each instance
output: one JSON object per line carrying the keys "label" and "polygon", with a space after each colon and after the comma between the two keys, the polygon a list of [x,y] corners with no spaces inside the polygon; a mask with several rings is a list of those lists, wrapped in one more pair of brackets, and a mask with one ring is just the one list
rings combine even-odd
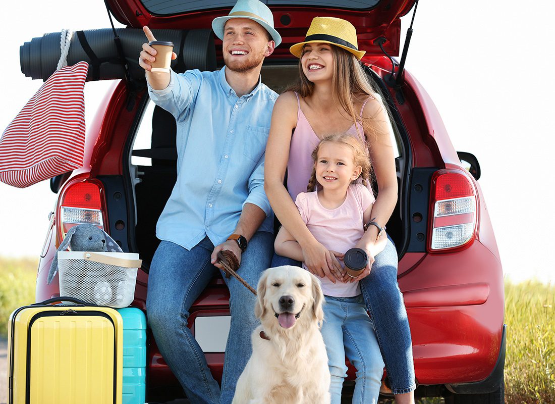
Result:
{"label": "dark blue jeans worn by the woman in yellow hat", "polygon": [[[397,251],[391,241],[375,258],[370,275],[360,281],[362,297],[370,312],[393,394],[416,388],[411,331],[403,295],[397,283]],[[274,254],[272,266],[298,265]]]}

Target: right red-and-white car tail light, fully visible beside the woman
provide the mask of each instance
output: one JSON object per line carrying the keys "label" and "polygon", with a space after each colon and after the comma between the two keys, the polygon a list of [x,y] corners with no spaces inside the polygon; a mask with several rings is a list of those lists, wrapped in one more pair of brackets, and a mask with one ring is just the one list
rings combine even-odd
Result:
{"label": "right red-and-white car tail light, fully visible beside the woman", "polygon": [[431,252],[466,248],[476,237],[478,222],[477,192],[470,176],[457,169],[442,169],[433,174]]}

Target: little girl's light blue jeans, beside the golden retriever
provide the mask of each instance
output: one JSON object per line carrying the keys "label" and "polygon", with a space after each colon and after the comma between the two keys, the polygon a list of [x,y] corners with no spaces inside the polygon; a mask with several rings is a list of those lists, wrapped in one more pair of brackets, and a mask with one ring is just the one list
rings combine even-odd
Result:
{"label": "little girl's light blue jeans, beside the golden retriever", "polygon": [[364,299],[362,295],[325,298],[322,337],[330,367],[331,404],[341,404],[341,389],[347,377],[345,356],[356,368],[352,404],[376,404],[384,360]]}

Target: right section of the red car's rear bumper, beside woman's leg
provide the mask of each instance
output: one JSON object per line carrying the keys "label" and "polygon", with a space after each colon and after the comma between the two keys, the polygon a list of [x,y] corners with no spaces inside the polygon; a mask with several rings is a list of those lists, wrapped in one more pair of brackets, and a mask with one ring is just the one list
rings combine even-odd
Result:
{"label": "right section of the red car's rear bumper, beside woman's leg", "polygon": [[503,365],[498,365],[505,335],[503,272],[497,256],[482,243],[428,254],[398,283],[418,384],[461,386],[463,391]]}

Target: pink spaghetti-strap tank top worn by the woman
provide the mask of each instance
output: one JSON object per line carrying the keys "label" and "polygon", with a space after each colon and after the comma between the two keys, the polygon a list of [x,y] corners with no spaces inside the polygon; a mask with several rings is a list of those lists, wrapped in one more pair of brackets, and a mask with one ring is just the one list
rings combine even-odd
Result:
{"label": "pink spaghetti-strap tank top worn by the woman", "polygon": [[[316,146],[318,146],[318,143],[320,143],[320,138],[316,135],[314,129],[312,129],[309,121],[306,119],[305,114],[301,111],[299,94],[295,93],[295,95],[297,96],[297,102],[299,103],[297,126],[291,136],[289,161],[287,161],[287,191],[289,191],[289,194],[294,201],[299,193],[306,192],[306,187],[309,184],[310,174],[312,174],[312,167],[314,165],[311,154]],[[364,106],[370,98],[372,97],[367,98],[362,104],[361,111],[364,111]],[[359,128],[361,127],[360,124],[357,126]],[[356,130],[355,124],[347,130],[347,133],[359,137],[366,143],[364,133],[359,133]],[[370,184],[368,188],[372,191]]]}

